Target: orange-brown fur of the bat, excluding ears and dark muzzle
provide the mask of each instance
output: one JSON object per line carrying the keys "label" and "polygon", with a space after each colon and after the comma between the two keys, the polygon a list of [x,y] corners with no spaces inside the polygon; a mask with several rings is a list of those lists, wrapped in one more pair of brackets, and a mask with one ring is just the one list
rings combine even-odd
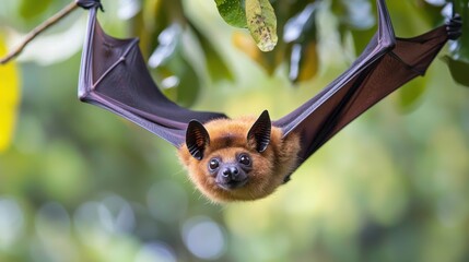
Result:
{"label": "orange-brown fur of the bat, excluding ears and dark muzzle", "polygon": [[[247,133],[256,118],[219,119],[204,124],[210,134],[210,145],[201,160],[194,158],[184,144],[178,151],[183,165],[199,190],[214,202],[246,201],[265,198],[272,193],[284,178],[294,169],[300,152],[300,138],[289,134],[282,139],[282,131],[272,127],[270,144],[258,153],[253,143],[247,141]],[[239,153],[248,153],[253,160],[245,186],[232,190],[220,188],[209,175],[208,162],[212,157],[234,160]]]}

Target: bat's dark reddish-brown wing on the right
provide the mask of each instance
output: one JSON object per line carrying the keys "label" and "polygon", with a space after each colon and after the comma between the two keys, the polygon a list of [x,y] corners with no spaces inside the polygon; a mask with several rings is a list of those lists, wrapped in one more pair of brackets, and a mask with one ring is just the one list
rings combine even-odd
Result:
{"label": "bat's dark reddish-brown wing on the right", "polygon": [[413,38],[396,38],[384,0],[377,0],[378,32],[356,61],[304,105],[274,121],[284,135],[300,133],[298,166],[353,119],[425,70],[460,20]]}

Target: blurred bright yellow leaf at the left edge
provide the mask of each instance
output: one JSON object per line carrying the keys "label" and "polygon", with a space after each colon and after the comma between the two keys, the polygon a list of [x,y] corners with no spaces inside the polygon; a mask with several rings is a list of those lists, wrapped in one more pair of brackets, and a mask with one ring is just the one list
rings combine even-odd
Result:
{"label": "blurred bright yellow leaf at the left edge", "polygon": [[[7,53],[0,35],[0,57]],[[14,61],[0,64],[0,153],[11,144],[20,100],[20,79]]]}

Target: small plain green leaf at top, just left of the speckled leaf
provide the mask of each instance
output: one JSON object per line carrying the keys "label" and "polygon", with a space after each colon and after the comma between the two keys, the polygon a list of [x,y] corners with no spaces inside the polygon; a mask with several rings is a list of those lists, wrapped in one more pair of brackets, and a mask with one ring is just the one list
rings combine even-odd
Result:
{"label": "small plain green leaf at top, just left of the speckled leaf", "polygon": [[241,28],[247,27],[244,0],[215,0],[215,3],[220,15],[227,24]]}

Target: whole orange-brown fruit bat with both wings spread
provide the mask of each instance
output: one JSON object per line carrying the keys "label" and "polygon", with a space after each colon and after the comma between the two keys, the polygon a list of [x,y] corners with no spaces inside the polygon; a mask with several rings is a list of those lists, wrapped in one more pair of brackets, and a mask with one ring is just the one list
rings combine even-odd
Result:
{"label": "whole orange-brown fruit bat with both wings spread", "polygon": [[316,96],[286,116],[271,120],[228,118],[195,111],[166,98],[153,82],[137,38],[116,39],[90,9],[79,76],[82,102],[105,108],[177,147],[189,178],[215,202],[263,198],[289,181],[294,170],[353,119],[401,85],[423,75],[448,39],[460,35],[461,21],[413,38],[395,37],[384,0],[377,0],[378,27],[351,67]]}

